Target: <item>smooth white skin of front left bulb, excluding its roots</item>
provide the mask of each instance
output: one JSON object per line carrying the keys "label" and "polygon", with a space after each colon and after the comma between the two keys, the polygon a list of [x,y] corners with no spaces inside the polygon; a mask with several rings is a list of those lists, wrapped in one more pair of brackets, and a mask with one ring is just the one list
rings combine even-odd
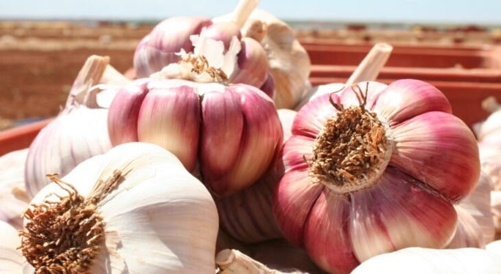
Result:
{"label": "smooth white skin of front left bulb, excluding its roots", "polygon": [[[207,189],[172,153],[145,143],[119,145],[82,162],[62,181],[89,197],[115,171],[123,179],[96,204],[104,247],[89,273],[214,273],[217,210]],[[51,183],[32,205],[47,195],[58,201],[54,194],[68,192]]]}

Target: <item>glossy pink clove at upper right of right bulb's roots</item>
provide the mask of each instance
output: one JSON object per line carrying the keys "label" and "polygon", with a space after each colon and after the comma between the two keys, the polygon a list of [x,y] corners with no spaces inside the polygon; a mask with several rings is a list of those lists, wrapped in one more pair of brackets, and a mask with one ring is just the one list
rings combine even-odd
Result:
{"label": "glossy pink clove at upper right of right bulb's roots", "polygon": [[[369,91],[369,95],[372,91]],[[425,112],[452,113],[449,101],[440,90],[415,79],[391,83],[377,97],[373,110],[384,117],[390,125],[401,123]]]}

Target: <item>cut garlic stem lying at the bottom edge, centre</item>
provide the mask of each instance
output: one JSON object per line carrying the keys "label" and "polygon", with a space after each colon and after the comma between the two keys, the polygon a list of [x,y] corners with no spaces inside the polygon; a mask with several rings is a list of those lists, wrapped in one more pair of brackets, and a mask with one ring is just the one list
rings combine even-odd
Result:
{"label": "cut garlic stem lying at the bottom edge, centre", "polygon": [[281,274],[235,249],[224,249],[215,256],[219,274]]}

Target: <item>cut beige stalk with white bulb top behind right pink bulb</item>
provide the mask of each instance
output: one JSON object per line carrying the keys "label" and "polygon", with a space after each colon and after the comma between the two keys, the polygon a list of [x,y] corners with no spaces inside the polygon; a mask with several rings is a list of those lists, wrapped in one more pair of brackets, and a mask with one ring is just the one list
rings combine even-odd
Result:
{"label": "cut beige stalk with white bulb top behind right pink bulb", "polygon": [[364,57],[364,60],[362,60],[362,62],[358,64],[355,71],[351,73],[351,76],[346,83],[325,84],[315,86],[313,88],[311,86],[306,87],[305,90],[307,90],[307,92],[305,96],[303,97],[303,99],[301,99],[301,102],[299,102],[295,106],[294,109],[300,110],[303,105],[312,101],[316,97],[335,92],[336,90],[342,90],[346,86],[351,86],[359,82],[375,81],[375,79],[377,79],[377,75],[380,74],[380,71],[383,68],[384,64],[386,64],[386,61],[388,60],[388,58],[390,58],[391,51],[393,51],[393,47],[391,45],[385,43],[378,43],[374,45],[371,51],[369,51],[369,53],[367,53],[367,55]]}

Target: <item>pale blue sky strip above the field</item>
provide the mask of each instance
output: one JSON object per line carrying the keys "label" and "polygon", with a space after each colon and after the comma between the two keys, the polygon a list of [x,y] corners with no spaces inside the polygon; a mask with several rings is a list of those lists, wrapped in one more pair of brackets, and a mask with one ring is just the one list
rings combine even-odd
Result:
{"label": "pale blue sky strip above the field", "polygon": [[[217,16],[238,0],[2,0],[0,20],[162,19]],[[286,20],[501,25],[501,0],[261,0],[259,8]]]}

